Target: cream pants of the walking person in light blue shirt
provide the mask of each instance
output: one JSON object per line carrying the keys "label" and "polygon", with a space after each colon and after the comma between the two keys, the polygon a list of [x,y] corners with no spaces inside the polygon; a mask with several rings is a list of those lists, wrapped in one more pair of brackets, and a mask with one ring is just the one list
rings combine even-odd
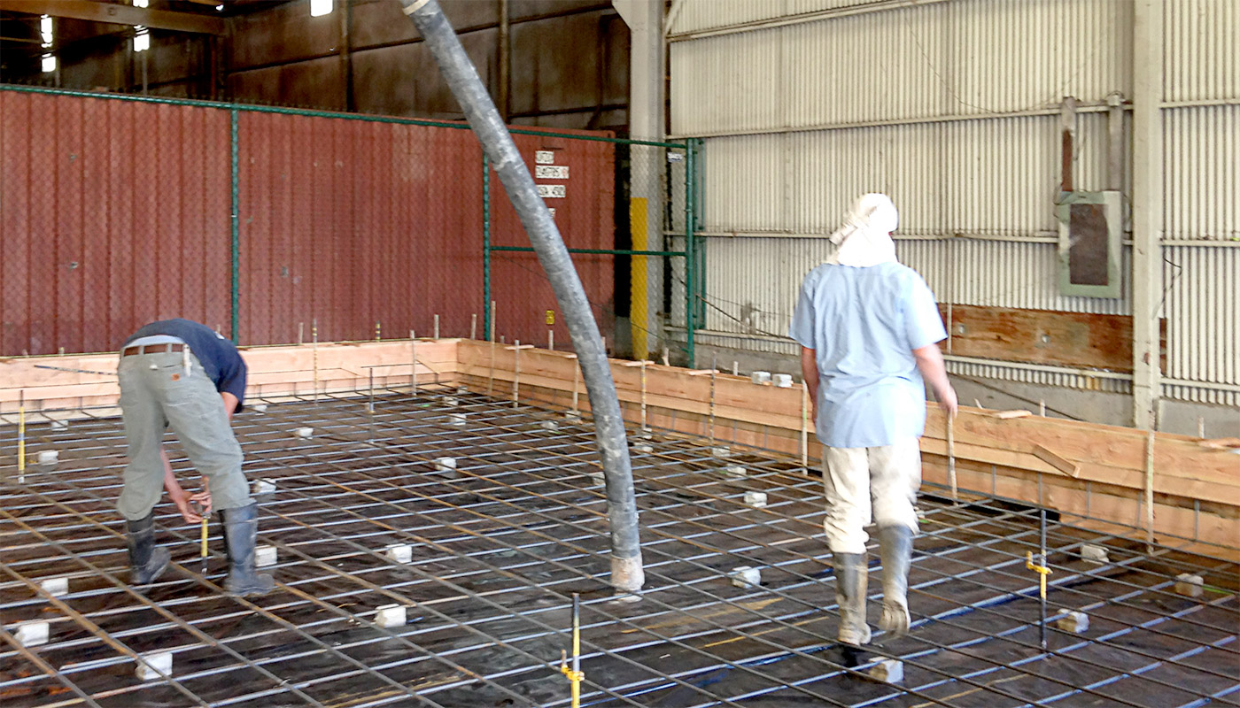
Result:
{"label": "cream pants of the walking person in light blue shirt", "polygon": [[914,508],[921,486],[921,449],[916,438],[880,448],[823,446],[822,484],[827,517],[822,526],[832,553],[864,553],[872,517],[878,526],[908,526],[918,532]]}

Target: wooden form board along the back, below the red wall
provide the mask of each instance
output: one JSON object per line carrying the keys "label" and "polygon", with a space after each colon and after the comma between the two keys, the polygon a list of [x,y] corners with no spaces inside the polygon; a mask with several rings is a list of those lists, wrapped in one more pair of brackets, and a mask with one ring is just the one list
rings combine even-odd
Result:
{"label": "wooden form board along the back, below the red wall", "polygon": [[[247,396],[262,397],[312,394],[316,384],[320,393],[365,389],[371,371],[376,387],[409,386],[414,356],[418,383],[456,381],[456,340],[242,347]],[[119,361],[115,353],[0,358],[0,414],[16,412],[21,396],[27,410],[114,405]]]}

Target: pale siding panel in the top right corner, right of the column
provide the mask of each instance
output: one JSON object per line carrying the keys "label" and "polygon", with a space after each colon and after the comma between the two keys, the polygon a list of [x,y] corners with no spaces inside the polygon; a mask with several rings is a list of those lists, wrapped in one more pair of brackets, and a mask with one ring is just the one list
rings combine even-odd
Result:
{"label": "pale siding panel in the top right corner, right of the column", "polygon": [[1240,4],[1172,0],[1163,12],[1163,98],[1240,98]]}

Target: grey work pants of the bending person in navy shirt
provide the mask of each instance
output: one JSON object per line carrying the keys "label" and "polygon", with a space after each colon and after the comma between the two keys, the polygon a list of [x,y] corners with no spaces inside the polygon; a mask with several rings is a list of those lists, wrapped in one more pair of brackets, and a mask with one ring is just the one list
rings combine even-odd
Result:
{"label": "grey work pants of the bending person in navy shirt", "polygon": [[181,352],[123,356],[118,376],[129,464],[117,507],[125,518],[145,518],[164,493],[159,453],[170,425],[190,461],[207,477],[213,510],[250,502],[241,471],[241,445],[223,399],[197,357]]}

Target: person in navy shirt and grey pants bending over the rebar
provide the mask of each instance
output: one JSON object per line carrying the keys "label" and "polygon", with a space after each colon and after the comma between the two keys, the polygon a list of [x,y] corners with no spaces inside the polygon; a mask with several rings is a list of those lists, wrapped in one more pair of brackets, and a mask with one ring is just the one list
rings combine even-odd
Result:
{"label": "person in navy shirt and grey pants bending over the rebar", "polygon": [[[246,362],[237,347],[206,325],[190,320],[151,322],[120,351],[120,410],[129,445],[118,507],[128,522],[131,582],[145,585],[167,568],[169,552],[155,546],[155,503],[160,490],[188,523],[215,507],[224,523],[229,573],[226,586],[239,595],[272,589],[270,575],[254,573],[258,503],[241,471],[242,454],[229,422],[244,407]],[[164,430],[171,427],[206,491],[187,496],[177,484]]]}

